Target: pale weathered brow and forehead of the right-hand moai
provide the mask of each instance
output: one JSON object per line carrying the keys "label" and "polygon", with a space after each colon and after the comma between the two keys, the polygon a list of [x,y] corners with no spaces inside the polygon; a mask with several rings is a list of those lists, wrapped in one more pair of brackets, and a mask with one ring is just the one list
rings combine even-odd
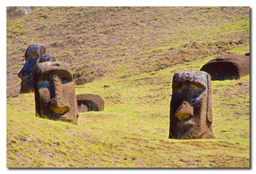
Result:
{"label": "pale weathered brow and forehead of the right-hand moai", "polygon": [[173,75],[173,90],[180,89],[184,83],[192,83],[198,88],[207,89],[207,73],[204,71],[182,71]]}

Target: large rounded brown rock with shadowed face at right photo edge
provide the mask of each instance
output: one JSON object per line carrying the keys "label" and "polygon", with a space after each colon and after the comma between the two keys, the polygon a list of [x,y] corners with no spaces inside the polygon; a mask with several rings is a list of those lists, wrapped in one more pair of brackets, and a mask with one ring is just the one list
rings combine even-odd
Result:
{"label": "large rounded brown rock with shadowed face at right photo edge", "polygon": [[209,73],[212,80],[239,79],[250,74],[250,56],[221,55],[204,64],[200,71]]}

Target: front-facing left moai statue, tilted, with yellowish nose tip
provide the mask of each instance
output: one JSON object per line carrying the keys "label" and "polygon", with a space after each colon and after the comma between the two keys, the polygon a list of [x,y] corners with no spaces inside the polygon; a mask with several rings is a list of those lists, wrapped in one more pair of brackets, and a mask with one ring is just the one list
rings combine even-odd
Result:
{"label": "front-facing left moai statue, tilted, with yellowish nose tip", "polygon": [[36,115],[77,124],[75,85],[72,71],[62,62],[42,62],[33,69]]}

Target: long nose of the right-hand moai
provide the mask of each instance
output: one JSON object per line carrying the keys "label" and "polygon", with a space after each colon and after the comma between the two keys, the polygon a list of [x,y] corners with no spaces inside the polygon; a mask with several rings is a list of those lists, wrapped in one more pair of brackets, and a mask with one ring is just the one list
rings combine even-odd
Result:
{"label": "long nose of the right-hand moai", "polygon": [[177,108],[175,117],[180,119],[187,119],[193,115],[193,107],[190,102],[195,91],[195,85],[191,83],[184,83],[181,89],[180,105]]}

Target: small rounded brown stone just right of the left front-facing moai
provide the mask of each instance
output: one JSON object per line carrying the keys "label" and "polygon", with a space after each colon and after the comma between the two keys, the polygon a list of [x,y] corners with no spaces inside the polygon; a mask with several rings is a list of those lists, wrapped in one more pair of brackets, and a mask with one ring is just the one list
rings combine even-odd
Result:
{"label": "small rounded brown stone just right of the left front-facing moai", "polygon": [[104,100],[98,95],[79,94],[76,98],[79,112],[104,110]]}

